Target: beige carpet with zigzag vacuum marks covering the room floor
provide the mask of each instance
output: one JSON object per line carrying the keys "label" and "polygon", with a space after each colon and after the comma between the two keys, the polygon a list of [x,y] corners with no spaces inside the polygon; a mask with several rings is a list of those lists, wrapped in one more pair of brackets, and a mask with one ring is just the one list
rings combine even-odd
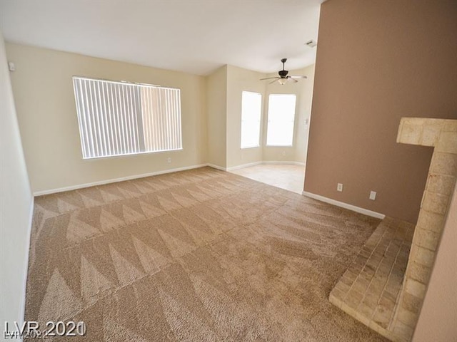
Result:
{"label": "beige carpet with zigzag vacuum marks covering the room floor", "polygon": [[328,302],[378,223],[209,167],[37,197],[26,319],[85,321],[69,341],[386,341]]}

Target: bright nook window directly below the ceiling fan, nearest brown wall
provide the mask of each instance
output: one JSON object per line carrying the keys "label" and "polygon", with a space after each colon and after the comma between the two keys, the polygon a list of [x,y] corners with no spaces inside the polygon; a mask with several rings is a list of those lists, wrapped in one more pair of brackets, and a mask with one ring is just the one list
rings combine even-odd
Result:
{"label": "bright nook window directly below the ceiling fan, nearest brown wall", "polygon": [[266,145],[292,146],[296,95],[271,94],[268,97]]}

